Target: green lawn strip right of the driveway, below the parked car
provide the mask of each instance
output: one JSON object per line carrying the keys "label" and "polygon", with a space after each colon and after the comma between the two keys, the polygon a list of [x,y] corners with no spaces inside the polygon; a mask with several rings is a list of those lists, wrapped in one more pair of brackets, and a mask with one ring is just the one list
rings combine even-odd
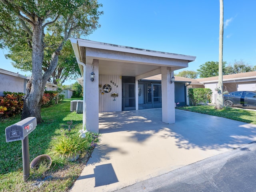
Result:
{"label": "green lawn strip right of the driveway, below the parked car", "polygon": [[178,109],[256,124],[256,111],[252,110],[238,108],[224,108],[222,110],[216,110],[214,109],[214,106],[189,106],[180,107]]}

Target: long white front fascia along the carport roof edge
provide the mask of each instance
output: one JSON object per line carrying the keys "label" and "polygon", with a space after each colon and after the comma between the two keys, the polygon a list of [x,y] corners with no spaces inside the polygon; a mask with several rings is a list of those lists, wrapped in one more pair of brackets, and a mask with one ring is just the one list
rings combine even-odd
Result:
{"label": "long white front fascia along the carport roof edge", "polygon": [[159,52],[159,51],[120,46],[120,45],[114,45],[114,44],[108,44],[108,43],[102,43],[102,42],[96,42],[96,41],[90,41],[90,40],[84,40],[84,39],[76,39],[76,40],[78,42],[78,46],[82,46],[82,47],[98,48],[98,49],[112,50],[112,51],[118,51],[118,52],[128,52],[128,53],[134,53],[134,54],[172,58],[172,59],[179,59],[179,60],[187,60],[188,62],[192,62],[196,60],[195,56],[173,54],[168,52]]}

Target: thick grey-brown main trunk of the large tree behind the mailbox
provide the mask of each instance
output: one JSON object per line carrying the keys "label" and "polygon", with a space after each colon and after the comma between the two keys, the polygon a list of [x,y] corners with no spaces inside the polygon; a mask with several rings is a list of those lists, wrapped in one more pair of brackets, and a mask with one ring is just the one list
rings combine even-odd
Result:
{"label": "thick grey-brown main trunk of the large tree behind the mailbox", "polygon": [[38,18],[34,21],[32,36],[32,82],[31,88],[26,90],[26,97],[21,119],[27,117],[36,117],[37,123],[42,122],[41,104],[44,94],[44,84],[42,81],[42,62],[44,58],[44,49],[42,45],[42,21]]}

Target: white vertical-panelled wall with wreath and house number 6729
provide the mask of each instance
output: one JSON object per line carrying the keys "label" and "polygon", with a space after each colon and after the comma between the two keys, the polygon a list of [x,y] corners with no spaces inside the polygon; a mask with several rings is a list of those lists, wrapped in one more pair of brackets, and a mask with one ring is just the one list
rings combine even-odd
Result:
{"label": "white vertical-panelled wall with wreath and house number 6729", "polygon": [[[101,84],[101,87],[100,87]],[[104,92],[103,86],[110,85],[111,91]],[[104,94],[102,94],[102,92]],[[112,93],[118,93],[118,97],[114,100]],[[100,75],[99,76],[99,112],[122,111],[122,79],[118,75]]]}

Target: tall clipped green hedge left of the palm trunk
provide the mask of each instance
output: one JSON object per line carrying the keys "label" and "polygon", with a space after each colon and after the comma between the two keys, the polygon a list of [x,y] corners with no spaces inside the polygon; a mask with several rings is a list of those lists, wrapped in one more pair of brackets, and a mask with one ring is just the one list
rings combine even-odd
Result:
{"label": "tall clipped green hedge left of the palm trunk", "polygon": [[212,90],[209,88],[190,88],[188,89],[190,105],[206,105],[211,102]]}

